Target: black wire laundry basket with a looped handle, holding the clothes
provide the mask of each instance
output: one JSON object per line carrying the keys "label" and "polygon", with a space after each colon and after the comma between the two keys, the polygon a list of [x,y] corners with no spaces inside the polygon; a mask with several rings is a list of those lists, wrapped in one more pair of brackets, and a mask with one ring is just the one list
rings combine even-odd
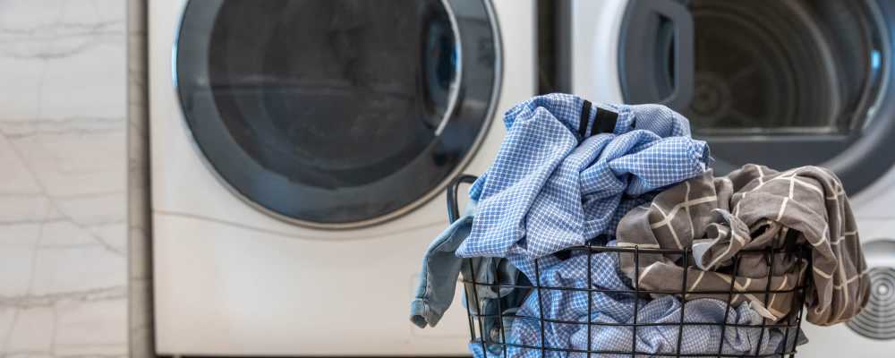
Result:
{"label": "black wire laundry basket with a looped handle, holding the clothes", "polygon": [[[461,183],[473,183],[476,177],[473,175],[459,175],[454,179],[452,183],[447,187],[447,217],[450,222],[454,222],[459,217],[459,208],[457,204],[457,189]],[[704,291],[699,290],[698,294],[711,294],[713,298],[719,298],[720,301],[725,301],[723,297],[726,297],[726,308],[724,309],[724,320],[720,322],[693,322],[685,320],[685,308],[687,300],[680,300],[680,317],[679,320],[673,322],[661,322],[661,323],[650,323],[650,322],[637,322],[637,318],[640,315],[640,304],[638,304],[639,300],[634,300],[633,307],[633,322],[630,323],[608,323],[608,322],[599,322],[592,320],[592,295],[598,293],[610,293],[610,294],[629,294],[635,295],[635,297],[648,297],[654,295],[667,295],[674,294],[678,297],[686,297],[686,294],[695,295],[697,291],[689,291],[687,289],[687,269],[683,269],[683,279],[680,285],[679,290],[673,291],[657,291],[657,290],[647,290],[640,287],[637,283],[637,280],[631,280],[631,286],[633,289],[630,290],[607,290],[601,289],[592,286],[592,271],[591,271],[591,260],[587,260],[587,287],[581,286],[541,286],[541,264],[539,260],[534,260],[534,278],[535,282],[530,283],[527,282],[516,282],[512,285],[510,284],[501,284],[501,283],[487,283],[487,282],[478,282],[476,277],[482,277],[482,272],[475,272],[476,266],[473,263],[473,259],[465,259],[464,266],[468,270],[471,275],[464,275],[461,278],[461,282],[464,283],[465,286],[465,306],[467,311],[467,316],[469,319],[469,332],[471,337],[471,348],[475,350],[481,349],[480,353],[483,353],[487,356],[494,357],[507,357],[508,352],[515,351],[516,353],[520,352],[520,350],[524,350],[525,356],[535,356],[535,357],[548,357],[548,356],[573,356],[573,357],[624,357],[624,356],[665,356],[665,357],[784,357],[789,356],[793,357],[797,353],[796,345],[799,343],[799,340],[804,337],[799,337],[800,328],[802,323],[802,308],[805,303],[805,297],[807,294],[806,286],[809,286],[809,281],[811,279],[811,275],[805,275],[806,271],[810,271],[810,269],[803,270],[802,277],[798,279],[798,282],[795,286],[789,289],[780,289],[773,290],[771,289],[771,277],[774,275],[774,265],[771,263],[775,262],[776,255],[792,255],[790,257],[797,257],[798,260],[802,260],[807,265],[807,268],[811,267],[811,255],[809,251],[804,247],[804,245],[796,245],[794,237],[792,240],[787,240],[788,243],[784,244],[785,247],[780,248],[768,248],[766,250],[743,250],[738,252],[733,260],[731,266],[731,272],[729,274],[732,275],[730,279],[730,286],[727,290],[724,291]],[[586,252],[588,255],[588,259],[592,258],[592,255],[601,253],[601,252],[617,252],[618,255],[630,255],[630,257],[634,260],[634,268],[635,275],[634,277],[640,277],[640,259],[642,255],[645,254],[678,254],[680,255],[682,262],[682,267],[688,267],[688,262],[693,260],[693,251],[691,248],[686,248],[685,250],[672,250],[672,249],[655,249],[655,248],[640,248],[637,246],[634,247],[618,247],[618,246],[601,246],[595,244],[585,244],[580,246],[574,246],[567,248],[569,253],[577,253],[581,254],[581,252]],[[562,253],[562,252],[560,252]],[[767,285],[763,290],[743,290],[743,289],[735,289],[735,284],[737,283],[737,274],[740,271],[740,261],[742,258],[747,257],[749,255],[760,255],[763,257],[763,262],[767,263],[769,266],[767,279]],[[489,270],[487,274],[492,277],[496,277],[499,275],[499,265],[498,260],[492,260],[493,265],[488,265],[488,268],[484,268]],[[754,261],[753,261],[754,262]],[[482,267],[478,268],[482,270]],[[479,274],[479,275],[477,275]],[[743,277],[741,277],[743,278]],[[538,297],[542,299],[544,295],[542,294],[550,294],[550,293],[569,293],[569,292],[580,292],[587,294],[587,320],[554,320],[550,318],[546,318],[544,315],[544,307],[541,300],[538,300],[538,308],[540,310],[540,314],[522,316],[518,315],[515,312],[507,312],[504,308],[499,307],[501,304],[501,300],[496,300],[498,304],[497,312],[488,312],[484,310],[479,300],[479,292],[482,292],[482,289],[491,290],[491,292],[501,292],[504,290],[527,290],[529,293],[536,292]],[[735,314],[735,296],[740,294],[756,294],[759,296],[763,296],[764,307],[768,307],[768,298],[772,294],[792,294],[791,297],[791,306],[787,315],[773,322],[768,319],[762,319],[760,324],[737,324],[737,323],[729,323],[729,315]],[[734,313],[732,313],[734,312]],[[505,328],[504,322],[516,321],[516,320],[528,320],[530,323],[533,322],[534,327],[540,328],[540,342],[536,344],[519,344],[514,343],[512,341],[507,341],[507,329]],[[494,322],[499,322],[498,324],[493,324]],[[545,326],[547,325],[575,325],[579,329],[585,329],[587,334],[587,344],[584,346],[586,349],[575,349],[569,346],[551,346],[546,343],[547,333],[545,332]],[[656,327],[656,326],[668,326],[672,329],[677,328],[677,342],[672,345],[676,346],[671,349],[671,352],[647,352],[644,351],[644,347],[638,346],[637,344],[637,329],[648,328],[648,327]],[[718,337],[717,349],[712,348],[711,352],[684,352],[682,351],[682,337],[685,337],[684,328],[690,326],[708,326],[714,329],[720,330],[720,336]],[[601,328],[626,328],[632,331],[631,334],[631,342],[630,348],[625,348],[619,350],[616,349],[606,350],[606,349],[597,349],[600,347],[596,347],[592,345],[592,332],[597,332],[597,329]],[[737,329],[737,328],[752,328],[752,329],[761,329],[758,337],[757,348],[754,352],[750,352],[748,354],[730,354],[729,352],[725,352],[725,331],[729,329]],[[780,341],[780,345],[774,348],[773,352],[763,352],[761,349],[763,339],[770,339],[770,333],[768,333],[769,337],[765,337],[765,332],[770,332],[771,329],[778,329],[777,334],[779,335],[782,332],[782,340]],[[600,333],[597,333],[600,334]],[[778,336],[780,337],[780,336]],[[713,342],[709,342],[710,346],[715,345]],[[512,354],[510,354],[512,355]]]}

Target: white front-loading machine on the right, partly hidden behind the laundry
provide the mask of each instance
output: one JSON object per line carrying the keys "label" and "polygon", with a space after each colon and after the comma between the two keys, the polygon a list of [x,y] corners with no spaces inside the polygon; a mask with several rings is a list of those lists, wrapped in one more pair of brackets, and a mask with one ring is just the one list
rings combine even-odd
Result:
{"label": "white front-loading machine on the right, partly hidden behind the laundry", "polygon": [[895,355],[895,2],[558,0],[557,13],[558,90],[674,107],[722,173],[840,175],[874,294],[848,324],[805,324],[799,355]]}

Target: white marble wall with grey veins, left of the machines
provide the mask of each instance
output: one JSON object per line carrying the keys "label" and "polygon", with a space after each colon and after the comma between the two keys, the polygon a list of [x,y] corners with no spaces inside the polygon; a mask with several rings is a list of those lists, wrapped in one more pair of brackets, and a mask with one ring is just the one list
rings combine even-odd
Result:
{"label": "white marble wall with grey veins, left of the machines", "polygon": [[128,353],[125,3],[0,0],[0,356]]}

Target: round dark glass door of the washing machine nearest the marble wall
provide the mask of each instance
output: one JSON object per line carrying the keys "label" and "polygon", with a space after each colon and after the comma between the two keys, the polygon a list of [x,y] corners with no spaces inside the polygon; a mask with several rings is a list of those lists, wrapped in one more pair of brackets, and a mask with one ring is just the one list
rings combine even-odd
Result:
{"label": "round dark glass door of the washing machine nearest the marble wall", "polygon": [[229,188],[341,228],[399,216],[462,169],[500,60],[481,0],[193,0],[173,61],[186,124]]}

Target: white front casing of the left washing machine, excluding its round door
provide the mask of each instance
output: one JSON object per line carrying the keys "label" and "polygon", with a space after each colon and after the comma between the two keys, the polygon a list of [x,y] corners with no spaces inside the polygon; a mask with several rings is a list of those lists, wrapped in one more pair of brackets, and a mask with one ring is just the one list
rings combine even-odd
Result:
{"label": "white front casing of the left washing machine, excluding its round door", "polygon": [[[463,170],[471,174],[481,174],[496,154],[500,115],[535,90],[533,1],[492,4],[502,50],[499,103]],[[466,354],[468,324],[458,299],[437,328],[408,320],[422,253],[447,226],[443,193],[381,225],[321,230],[261,213],[211,172],[173,81],[184,5],[149,6],[158,354]]]}

